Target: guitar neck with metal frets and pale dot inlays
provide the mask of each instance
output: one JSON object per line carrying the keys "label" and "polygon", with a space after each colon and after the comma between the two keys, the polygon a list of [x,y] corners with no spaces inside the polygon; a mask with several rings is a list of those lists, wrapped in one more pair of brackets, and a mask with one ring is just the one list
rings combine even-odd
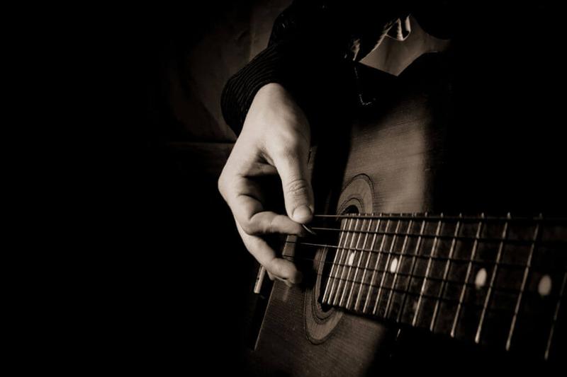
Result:
{"label": "guitar neck with metal frets and pale dot inlays", "polygon": [[566,219],[330,217],[322,303],[545,359],[564,342]]}

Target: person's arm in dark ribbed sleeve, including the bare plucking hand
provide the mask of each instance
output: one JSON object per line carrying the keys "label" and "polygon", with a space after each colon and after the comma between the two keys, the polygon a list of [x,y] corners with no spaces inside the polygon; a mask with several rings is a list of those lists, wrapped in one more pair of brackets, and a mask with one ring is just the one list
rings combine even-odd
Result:
{"label": "person's arm in dark ribbed sleeve, including the bare plucking hand", "polygon": [[[296,0],[276,18],[266,50],[226,84],[221,98],[223,115],[240,136],[218,189],[247,250],[266,268],[270,279],[288,285],[301,282],[301,272],[278,257],[263,236],[306,236],[303,224],[313,219],[307,166],[315,130],[310,120],[337,97],[339,102],[347,100],[338,95],[342,93],[338,88],[350,85],[346,72],[353,63],[376,49],[386,36],[398,40],[408,36],[410,13],[419,17],[423,28],[430,26],[428,33],[448,37],[450,18],[439,16],[447,13],[448,6],[436,2],[432,11],[432,4],[427,5],[429,8],[411,1]],[[328,80],[330,77],[334,80]],[[266,208],[263,187],[255,180],[275,174],[281,178],[286,214]]]}

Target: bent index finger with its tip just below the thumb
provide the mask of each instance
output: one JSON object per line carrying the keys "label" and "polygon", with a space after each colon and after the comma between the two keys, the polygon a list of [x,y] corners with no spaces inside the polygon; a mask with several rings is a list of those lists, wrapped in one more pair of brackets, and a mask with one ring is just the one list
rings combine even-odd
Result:
{"label": "bent index finger with its tip just below the thumb", "polygon": [[305,228],[288,216],[264,211],[264,206],[257,197],[260,195],[257,187],[247,178],[237,180],[231,192],[227,197],[228,205],[238,224],[249,235],[281,233],[307,236]]}

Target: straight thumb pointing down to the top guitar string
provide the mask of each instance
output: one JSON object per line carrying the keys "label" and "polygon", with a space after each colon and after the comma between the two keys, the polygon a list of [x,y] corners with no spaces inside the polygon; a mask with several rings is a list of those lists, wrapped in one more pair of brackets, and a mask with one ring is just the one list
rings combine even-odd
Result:
{"label": "straight thumb pointing down to the top guitar string", "polygon": [[297,223],[306,224],[313,218],[313,189],[307,168],[307,156],[286,153],[274,161],[283,187],[288,216]]}

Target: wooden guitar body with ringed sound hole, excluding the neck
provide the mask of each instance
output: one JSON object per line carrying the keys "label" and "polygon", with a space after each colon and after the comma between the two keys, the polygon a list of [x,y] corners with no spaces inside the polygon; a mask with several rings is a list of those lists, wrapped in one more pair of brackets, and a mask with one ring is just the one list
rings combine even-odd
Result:
{"label": "wooden guitar body with ringed sound hole, excluding the neck", "polygon": [[[517,182],[511,182],[513,174],[500,174],[494,166],[493,162],[501,157],[498,153],[485,156],[490,151],[481,147],[476,149],[477,155],[471,155],[467,141],[473,140],[464,141],[468,131],[451,130],[462,115],[454,114],[450,72],[439,54],[417,59],[398,78],[379,77],[376,82],[381,84],[373,83],[373,73],[369,71],[369,87],[380,86],[376,96],[382,98],[378,105],[357,112],[354,122],[349,114],[350,127],[337,127],[325,134],[311,158],[316,212],[459,214],[503,211],[503,207],[527,212],[549,208],[547,198],[531,202],[522,199],[528,195],[537,197],[534,187],[541,182],[526,185],[525,175],[517,175]],[[500,134],[505,139],[505,132]],[[490,145],[496,145],[495,141]],[[522,146],[518,142],[514,148]],[[508,146],[500,151],[509,156],[511,150]],[[541,161],[534,163],[541,166]],[[490,185],[478,172],[483,172]],[[502,182],[495,181],[499,174]],[[559,182],[557,179],[552,183],[557,192],[562,190],[557,187]],[[517,187],[513,195],[510,187]],[[297,263],[305,271],[305,281],[291,288],[274,283],[257,342],[249,355],[254,373],[455,373],[454,366],[459,367],[459,374],[510,371],[507,365],[511,359],[506,352],[486,351],[442,335],[406,329],[393,321],[322,306],[320,266],[329,258],[329,250],[303,249],[296,250],[293,243],[287,243],[283,249],[284,255],[301,255]],[[301,262],[305,256],[312,261],[308,258]],[[541,365],[544,364],[530,364],[534,371],[543,373]]]}

